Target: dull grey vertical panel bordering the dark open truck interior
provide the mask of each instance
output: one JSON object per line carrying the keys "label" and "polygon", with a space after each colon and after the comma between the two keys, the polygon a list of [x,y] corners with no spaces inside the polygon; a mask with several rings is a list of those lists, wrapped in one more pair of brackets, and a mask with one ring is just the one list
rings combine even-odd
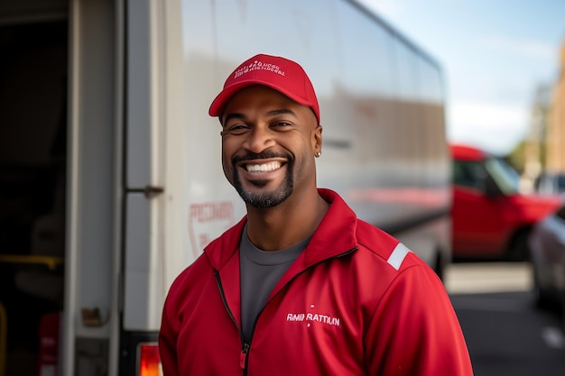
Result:
{"label": "dull grey vertical panel bordering the dark open truck interior", "polygon": [[[71,157],[69,185],[69,245],[66,283],[75,289],[68,296],[68,306],[75,315],[69,317],[76,335],[107,336],[106,327],[84,326],[80,312],[83,308],[99,308],[109,314],[114,288],[108,267],[113,265],[115,218],[115,107],[114,93],[114,25],[98,23],[84,14],[94,9],[112,13],[112,5],[83,1],[76,5],[76,54],[73,66],[71,103]],[[85,32],[88,29],[89,32]],[[88,45],[91,48],[84,49]],[[96,47],[95,47],[96,46]],[[79,109],[79,110],[78,110]]]}

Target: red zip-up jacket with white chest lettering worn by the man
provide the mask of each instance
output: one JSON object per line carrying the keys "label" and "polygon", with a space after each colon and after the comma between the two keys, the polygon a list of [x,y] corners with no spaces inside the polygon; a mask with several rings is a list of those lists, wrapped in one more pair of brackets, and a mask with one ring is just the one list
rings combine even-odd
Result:
{"label": "red zip-up jacket with white chest lettering worn by the man", "polygon": [[227,230],[171,286],[159,347],[165,376],[472,375],[443,285],[394,237],[329,211],[257,318],[239,332],[239,240]]}

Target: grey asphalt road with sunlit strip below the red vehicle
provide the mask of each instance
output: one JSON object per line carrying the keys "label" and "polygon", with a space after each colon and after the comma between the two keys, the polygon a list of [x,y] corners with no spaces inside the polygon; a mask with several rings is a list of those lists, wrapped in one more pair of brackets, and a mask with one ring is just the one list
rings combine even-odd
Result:
{"label": "grey asphalt road with sunlit strip below the red vehicle", "polygon": [[476,376],[563,376],[560,319],[533,306],[529,264],[455,263],[446,289]]}

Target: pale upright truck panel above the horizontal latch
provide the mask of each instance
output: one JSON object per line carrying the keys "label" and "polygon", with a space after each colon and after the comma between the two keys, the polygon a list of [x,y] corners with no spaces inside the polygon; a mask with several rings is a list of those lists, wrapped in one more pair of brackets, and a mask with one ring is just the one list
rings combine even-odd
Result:
{"label": "pale upright truck panel above the horizontal latch", "polygon": [[164,30],[162,2],[127,9],[126,187],[162,187]]}

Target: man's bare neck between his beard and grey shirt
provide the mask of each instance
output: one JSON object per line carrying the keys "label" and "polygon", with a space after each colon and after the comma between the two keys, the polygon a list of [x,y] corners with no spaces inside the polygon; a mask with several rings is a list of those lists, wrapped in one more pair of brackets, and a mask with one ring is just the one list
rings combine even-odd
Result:
{"label": "man's bare neck between his beard and grey shirt", "polygon": [[313,234],[328,208],[318,191],[269,209],[248,207],[247,235],[263,251],[283,250]]}

